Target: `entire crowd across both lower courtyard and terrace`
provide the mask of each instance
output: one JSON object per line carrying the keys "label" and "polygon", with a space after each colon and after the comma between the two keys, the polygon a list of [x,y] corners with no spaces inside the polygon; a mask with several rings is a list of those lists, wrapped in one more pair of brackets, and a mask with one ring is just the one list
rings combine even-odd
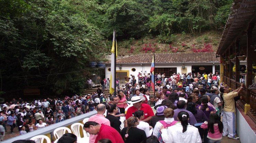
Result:
{"label": "entire crowd across both lower courtyard and terrace", "polygon": [[[150,95],[150,86],[140,84],[145,80],[142,78],[139,83],[117,87],[117,96],[106,96],[98,88],[92,94],[65,96],[64,99],[46,98],[29,102],[21,98],[13,99],[1,105],[1,140],[7,131],[6,125],[10,126],[10,133],[18,127],[20,134],[25,134],[95,109],[97,114],[84,125],[85,131],[90,133],[90,143],[103,139],[113,143],[218,143],[222,136],[239,139],[235,133],[234,112],[235,100],[239,99],[243,84],[230,92],[227,87],[219,86],[218,73],[217,76],[198,74],[195,78],[192,76],[191,82],[188,82],[191,74],[178,75],[173,74],[173,79],[167,80],[162,80],[166,78],[161,75],[161,79],[157,80],[161,80],[160,85],[155,83],[158,86],[156,95]],[[207,80],[213,78],[217,84],[211,82],[204,86],[206,76]],[[201,78],[202,81],[197,80]],[[182,84],[179,85],[179,82]],[[168,86],[169,83],[172,83],[171,86]],[[120,128],[120,117],[125,119],[124,128]]]}

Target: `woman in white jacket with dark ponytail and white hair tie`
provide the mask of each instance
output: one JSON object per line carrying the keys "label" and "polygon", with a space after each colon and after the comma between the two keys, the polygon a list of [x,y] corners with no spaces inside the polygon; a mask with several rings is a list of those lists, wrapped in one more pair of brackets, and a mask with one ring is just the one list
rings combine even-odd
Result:
{"label": "woman in white jacket with dark ponytail and white hair tie", "polygon": [[189,114],[181,111],[177,123],[165,129],[161,127],[161,136],[165,143],[202,143],[198,129],[188,124]]}

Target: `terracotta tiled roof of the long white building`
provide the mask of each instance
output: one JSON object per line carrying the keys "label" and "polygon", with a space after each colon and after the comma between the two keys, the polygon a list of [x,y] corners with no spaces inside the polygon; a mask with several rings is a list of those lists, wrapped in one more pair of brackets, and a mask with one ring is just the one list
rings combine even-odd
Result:
{"label": "terracotta tiled roof of the long white building", "polygon": [[[129,63],[151,63],[153,54],[135,54],[130,57],[118,59],[119,64]],[[219,62],[215,52],[195,52],[195,53],[156,53],[155,63],[204,63]]]}

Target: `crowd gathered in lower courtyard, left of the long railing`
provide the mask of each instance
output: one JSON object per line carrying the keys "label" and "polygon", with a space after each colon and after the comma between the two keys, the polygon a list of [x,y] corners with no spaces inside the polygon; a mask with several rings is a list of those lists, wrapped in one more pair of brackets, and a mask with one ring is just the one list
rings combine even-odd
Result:
{"label": "crowd gathered in lower courtyard, left of the long railing", "polygon": [[[103,94],[102,94],[103,95]],[[93,111],[97,102],[96,93],[87,96],[65,96],[64,99],[36,99],[25,101],[22,98],[7,101],[0,108],[0,140],[5,133],[14,134],[14,128],[18,128],[20,135],[44,128],[46,126],[62,122],[66,119]],[[94,98],[94,100],[92,99]],[[103,99],[106,102],[106,96]],[[10,132],[7,131],[10,126]]]}

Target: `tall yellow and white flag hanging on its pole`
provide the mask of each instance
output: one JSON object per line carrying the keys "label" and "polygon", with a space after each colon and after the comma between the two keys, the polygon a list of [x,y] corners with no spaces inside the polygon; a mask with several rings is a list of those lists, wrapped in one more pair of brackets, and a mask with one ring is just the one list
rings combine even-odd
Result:
{"label": "tall yellow and white flag hanging on its pole", "polygon": [[113,33],[113,43],[111,48],[111,72],[110,72],[110,90],[109,93],[115,92],[115,59],[117,57],[117,39],[115,38],[115,31]]}

